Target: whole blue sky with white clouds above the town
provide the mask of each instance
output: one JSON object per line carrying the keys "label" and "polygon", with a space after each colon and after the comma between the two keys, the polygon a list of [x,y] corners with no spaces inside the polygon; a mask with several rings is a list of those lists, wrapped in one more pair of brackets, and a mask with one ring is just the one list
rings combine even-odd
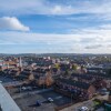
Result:
{"label": "whole blue sky with white clouds above the town", "polygon": [[0,53],[111,53],[111,0],[0,0]]}

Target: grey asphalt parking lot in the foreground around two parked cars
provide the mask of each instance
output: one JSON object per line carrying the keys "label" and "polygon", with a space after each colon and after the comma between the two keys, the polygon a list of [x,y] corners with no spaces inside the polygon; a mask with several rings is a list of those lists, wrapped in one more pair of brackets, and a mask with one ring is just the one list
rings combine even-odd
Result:
{"label": "grey asphalt parking lot in the foreground around two parked cars", "polygon": [[[51,98],[53,102],[49,102],[48,98]],[[38,100],[42,103],[40,107],[36,105]],[[38,94],[27,94],[16,99],[16,102],[22,111],[54,111],[56,107],[70,103],[71,99],[54,91],[47,91]]]}

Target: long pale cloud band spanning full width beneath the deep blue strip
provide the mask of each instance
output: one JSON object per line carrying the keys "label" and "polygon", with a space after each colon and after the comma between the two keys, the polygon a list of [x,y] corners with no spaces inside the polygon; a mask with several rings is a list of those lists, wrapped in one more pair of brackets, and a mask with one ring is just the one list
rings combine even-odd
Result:
{"label": "long pale cloud band spanning full width beneath the deep blue strip", "polygon": [[[111,28],[101,26],[100,28],[88,29],[71,29],[69,33],[33,33],[33,32],[13,32],[6,31],[0,32],[1,42],[3,44],[36,44],[43,43],[48,46],[69,46],[81,44],[82,48],[97,44],[110,44],[111,43]],[[105,29],[103,29],[105,28]]]}

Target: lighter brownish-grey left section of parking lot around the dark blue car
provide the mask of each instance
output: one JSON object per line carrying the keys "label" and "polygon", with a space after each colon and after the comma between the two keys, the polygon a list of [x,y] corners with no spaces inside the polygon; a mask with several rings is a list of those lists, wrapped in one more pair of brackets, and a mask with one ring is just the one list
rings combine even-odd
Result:
{"label": "lighter brownish-grey left section of parking lot around the dark blue car", "polygon": [[[43,102],[42,105],[34,105],[38,100]],[[53,105],[44,102],[47,100],[40,94],[24,95],[22,98],[14,99],[14,101],[22,111],[54,111]]]}

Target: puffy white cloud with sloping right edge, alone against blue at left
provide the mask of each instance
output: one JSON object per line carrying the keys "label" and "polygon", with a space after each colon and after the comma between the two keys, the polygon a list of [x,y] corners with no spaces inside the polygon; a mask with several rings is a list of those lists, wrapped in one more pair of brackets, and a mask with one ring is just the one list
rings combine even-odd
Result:
{"label": "puffy white cloud with sloping right edge, alone against blue at left", "polygon": [[29,31],[29,27],[23,26],[16,17],[2,17],[0,18],[0,29],[3,30],[18,30]]}

